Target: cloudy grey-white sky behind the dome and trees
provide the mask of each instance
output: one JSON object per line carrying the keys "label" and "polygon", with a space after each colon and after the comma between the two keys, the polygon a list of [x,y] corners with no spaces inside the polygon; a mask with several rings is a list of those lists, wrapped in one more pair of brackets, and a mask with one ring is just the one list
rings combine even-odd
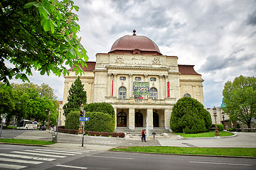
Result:
{"label": "cloudy grey-white sky behind the dome and trees", "polygon": [[[255,0],[74,0],[80,7],[82,45],[90,61],[107,53],[124,35],[144,35],[163,55],[178,56],[178,64],[193,64],[204,79],[206,108],[220,106],[223,86],[235,77],[256,76]],[[31,81],[53,87],[63,99],[64,78]]]}

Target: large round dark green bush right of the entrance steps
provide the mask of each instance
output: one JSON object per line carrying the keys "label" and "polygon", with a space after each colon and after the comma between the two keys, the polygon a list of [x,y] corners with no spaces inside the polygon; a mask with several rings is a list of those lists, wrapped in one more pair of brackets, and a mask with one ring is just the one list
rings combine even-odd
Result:
{"label": "large round dark green bush right of the entrance steps", "polygon": [[172,109],[170,126],[174,132],[208,132],[211,125],[210,113],[194,98],[180,98]]}

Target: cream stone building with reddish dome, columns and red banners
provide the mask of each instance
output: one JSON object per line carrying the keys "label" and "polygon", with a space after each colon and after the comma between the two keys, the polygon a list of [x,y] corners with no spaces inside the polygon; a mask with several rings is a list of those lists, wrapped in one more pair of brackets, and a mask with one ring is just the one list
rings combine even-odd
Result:
{"label": "cream stone building with reddish dome, columns and red banners", "polygon": [[[72,69],[65,77],[63,104],[77,78]],[[83,69],[80,80],[87,103],[110,103],[116,128],[147,123],[149,129],[170,129],[171,111],[179,98],[191,96],[203,103],[203,79],[193,65],[178,65],[178,57],[162,55],[152,40],[135,31],[114,42],[110,52],[98,53],[96,62],[87,62]]]}

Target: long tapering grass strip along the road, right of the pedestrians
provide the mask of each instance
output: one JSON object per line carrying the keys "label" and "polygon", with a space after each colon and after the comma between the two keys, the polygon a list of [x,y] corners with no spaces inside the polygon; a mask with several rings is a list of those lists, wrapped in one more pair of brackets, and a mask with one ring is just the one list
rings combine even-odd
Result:
{"label": "long tapering grass strip along the road, right of the pedestrians", "polygon": [[256,157],[256,148],[202,148],[202,147],[123,147],[113,151],[149,152],[165,154],[201,154],[220,156]]}

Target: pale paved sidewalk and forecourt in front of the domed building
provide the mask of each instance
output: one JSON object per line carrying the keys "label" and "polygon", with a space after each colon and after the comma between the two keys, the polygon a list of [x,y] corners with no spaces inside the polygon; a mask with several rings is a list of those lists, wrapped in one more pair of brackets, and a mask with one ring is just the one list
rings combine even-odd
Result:
{"label": "pale paved sidewalk and forecourt in front of the domed building", "polygon": [[[52,134],[48,131],[24,132],[16,139],[28,140],[51,140]],[[196,138],[178,140],[177,136],[170,134],[167,138],[147,139],[147,142],[141,142],[141,139],[135,138],[116,138],[116,137],[92,137],[84,136],[84,147],[82,147],[81,135],[68,135],[58,133],[58,142],[48,147],[73,148],[73,149],[92,149],[108,150],[113,147],[130,146],[172,146],[172,147],[256,147],[256,133],[238,132],[235,137],[225,138]]]}

